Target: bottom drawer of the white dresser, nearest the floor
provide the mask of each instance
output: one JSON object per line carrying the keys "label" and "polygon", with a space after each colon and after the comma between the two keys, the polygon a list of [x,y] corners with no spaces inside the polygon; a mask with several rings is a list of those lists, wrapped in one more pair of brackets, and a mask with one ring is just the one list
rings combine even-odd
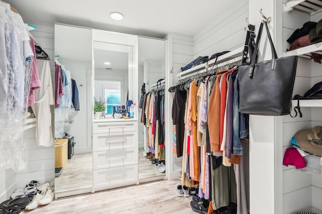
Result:
{"label": "bottom drawer of the white dresser, nearest the floor", "polygon": [[137,164],[94,170],[94,189],[100,191],[136,184]]}

